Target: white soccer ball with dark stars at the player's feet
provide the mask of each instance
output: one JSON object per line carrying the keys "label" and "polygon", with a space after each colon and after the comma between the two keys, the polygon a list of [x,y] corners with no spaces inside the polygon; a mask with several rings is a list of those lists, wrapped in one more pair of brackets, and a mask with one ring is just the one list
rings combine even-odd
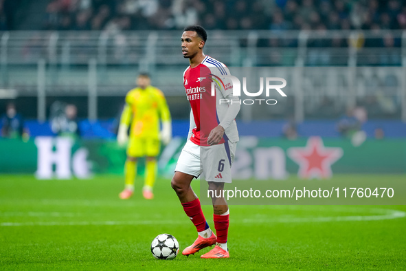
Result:
{"label": "white soccer ball with dark stars at the player's feet", "polygon": [[158,235],[151,243],[151,252],[160,260],[174,259],[179,252],[178,240],[167,233]]}

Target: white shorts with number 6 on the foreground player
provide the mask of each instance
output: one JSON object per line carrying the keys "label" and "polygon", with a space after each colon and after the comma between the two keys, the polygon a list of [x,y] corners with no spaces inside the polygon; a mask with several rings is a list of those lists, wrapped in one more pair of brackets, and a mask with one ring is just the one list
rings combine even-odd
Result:
{"label": "white shorts with number 6 on the foreground player", "polygon": [[232,164],[237,142],[225,142],[214,146],[199,146],[188,140],[179,156],[174,171],[194,177],[203,177],[207,182],[232,182]]}

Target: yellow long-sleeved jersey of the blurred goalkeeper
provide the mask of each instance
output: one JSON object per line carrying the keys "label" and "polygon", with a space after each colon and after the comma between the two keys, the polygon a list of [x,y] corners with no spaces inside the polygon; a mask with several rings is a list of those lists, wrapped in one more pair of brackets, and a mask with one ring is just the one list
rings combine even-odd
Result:
{"label": "yellow long-sleeved jersey of the blurred goalkeeper", "polygon": [[159,119],[170,122],[170,112],[161,90],[149,85],[128,91],[120,123],[129,125],[130,137],[159,138]]}

